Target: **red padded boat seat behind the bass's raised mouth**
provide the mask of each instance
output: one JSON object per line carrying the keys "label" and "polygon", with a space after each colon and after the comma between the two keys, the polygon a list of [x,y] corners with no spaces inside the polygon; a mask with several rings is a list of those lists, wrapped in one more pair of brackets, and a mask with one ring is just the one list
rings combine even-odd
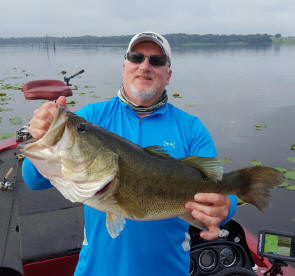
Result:
{"label": "red padded boat seat behind the bass's raised mouth", "polygon": [[72,90],[60,80],[35,80],[23,86],[27,100],[56,100],[60,96],[72,96]]}

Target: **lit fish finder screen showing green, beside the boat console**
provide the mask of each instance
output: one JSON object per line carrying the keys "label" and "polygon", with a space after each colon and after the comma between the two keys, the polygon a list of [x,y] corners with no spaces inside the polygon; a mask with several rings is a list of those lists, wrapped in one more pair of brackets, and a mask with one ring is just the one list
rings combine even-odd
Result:
{"label": "lit fish finder screen showing green, beside the boat console", "polygon": [[292,238],[273,234],[265,234],[264,253],[295,257],[291,251]]}

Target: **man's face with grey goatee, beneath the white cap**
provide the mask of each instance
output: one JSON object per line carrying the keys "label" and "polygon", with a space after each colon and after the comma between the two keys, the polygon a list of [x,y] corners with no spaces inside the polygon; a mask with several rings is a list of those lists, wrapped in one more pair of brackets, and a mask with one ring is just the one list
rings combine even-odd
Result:
{"label": "man's face with grey goatee, beneath the white cap", "polygon": [[[132,51],[146,56],[163,55],[160,46],[150,41],[136,44]],[[140,64],[126,59],[123,64],[123,86],[127,98],[138,105],[153,104],[168,85],[171,73],[168,64],[153,66],[147,57]]]}

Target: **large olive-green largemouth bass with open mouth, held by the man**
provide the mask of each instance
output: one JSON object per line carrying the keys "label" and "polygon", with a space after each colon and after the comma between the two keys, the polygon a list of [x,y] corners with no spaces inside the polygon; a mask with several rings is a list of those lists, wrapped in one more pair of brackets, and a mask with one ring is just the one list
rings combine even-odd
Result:
{"label": "large olive-green largemouth bass with open mouth, held by the man", "polygon": [[113,238],[125,218],[178,216],[202,227],[184,208],[197,192],[236,194],[263,210],[269,190],[282,180],[282,173],[269,167],[223,174],[213,158],[175,159],[158,146],[142,148],[61,106],[46,135],[19,148],[65,198],[106,212]]}

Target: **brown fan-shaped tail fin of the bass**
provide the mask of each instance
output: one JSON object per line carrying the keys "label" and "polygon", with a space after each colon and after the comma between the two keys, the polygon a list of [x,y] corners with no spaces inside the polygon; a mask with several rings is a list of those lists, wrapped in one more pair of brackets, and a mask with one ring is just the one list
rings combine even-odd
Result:
{"label": "brown fan-shaped tail fin of the bass", "polygon": [[264,211],[270,202],[270,190],[283,180],[283,174],[273,168],[255,166],[237,171],[240,191],[237,196],[244,202],[255,205]]}

